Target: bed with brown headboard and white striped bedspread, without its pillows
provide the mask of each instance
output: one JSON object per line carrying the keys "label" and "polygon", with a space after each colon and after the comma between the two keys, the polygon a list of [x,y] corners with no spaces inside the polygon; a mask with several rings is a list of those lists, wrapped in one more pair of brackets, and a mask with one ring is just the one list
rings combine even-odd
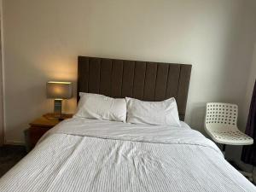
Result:
{"label": "bed with brown headboard and white striped bedspread, without its pillows", "polygon": [[[146,101],[173,96],[184,119],[190,65],[79,56],[78,68],[78,93]],[[183,121],[172,127],[75,117],[48,131],[0,179],[0,191],[256,189],[212,141]]]}

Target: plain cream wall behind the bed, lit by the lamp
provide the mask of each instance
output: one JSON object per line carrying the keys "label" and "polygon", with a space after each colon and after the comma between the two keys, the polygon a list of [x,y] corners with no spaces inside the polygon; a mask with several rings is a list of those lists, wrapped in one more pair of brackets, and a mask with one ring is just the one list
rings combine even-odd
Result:
{"label": "plain cream wall behind the bed, lit by the lamp", "polygon": [[[243,105],[255,39],[253,0],[3,0],[8,143],[52,110],[49,79],[77,79],[77,56],[193,65],[186,121],[206,102]],[[75,99],[67,102],[73,112]]]}

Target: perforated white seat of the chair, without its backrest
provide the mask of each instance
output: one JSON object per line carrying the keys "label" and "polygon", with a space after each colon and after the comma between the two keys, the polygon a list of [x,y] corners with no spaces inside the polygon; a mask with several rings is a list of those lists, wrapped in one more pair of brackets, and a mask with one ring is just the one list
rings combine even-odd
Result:
{"label": "perforated white seat of the chair, without its backrest", "polygon": [[229,145],[251,145],[253,138],[248,137],[243,132],[237,131],[212,131],[207,130],[208,134],[216,143]]}

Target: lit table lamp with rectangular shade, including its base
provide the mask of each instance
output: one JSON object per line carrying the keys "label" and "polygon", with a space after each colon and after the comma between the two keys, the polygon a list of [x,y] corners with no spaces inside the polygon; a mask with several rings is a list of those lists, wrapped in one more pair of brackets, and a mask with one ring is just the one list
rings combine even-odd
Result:
{"label": "lit table lamp with rectangular shade, including its base", "polygon": [[47,98],[55,100],[54,116],[55,118],[61,118],[62,100],[72,98],[72,83],[71,82],[59,82],[49,81],[46,84]]}

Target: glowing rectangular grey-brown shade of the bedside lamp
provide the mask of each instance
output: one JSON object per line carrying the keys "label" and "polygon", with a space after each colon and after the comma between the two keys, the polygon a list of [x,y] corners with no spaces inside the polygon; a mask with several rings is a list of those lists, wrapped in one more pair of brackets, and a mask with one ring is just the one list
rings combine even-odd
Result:
{"label": "glowing rectangular grey-brown shade of the bedside lamp", "polygon": [[72,98],[72,83],[49,81],[46,84],[47,98],[70,99]]}

